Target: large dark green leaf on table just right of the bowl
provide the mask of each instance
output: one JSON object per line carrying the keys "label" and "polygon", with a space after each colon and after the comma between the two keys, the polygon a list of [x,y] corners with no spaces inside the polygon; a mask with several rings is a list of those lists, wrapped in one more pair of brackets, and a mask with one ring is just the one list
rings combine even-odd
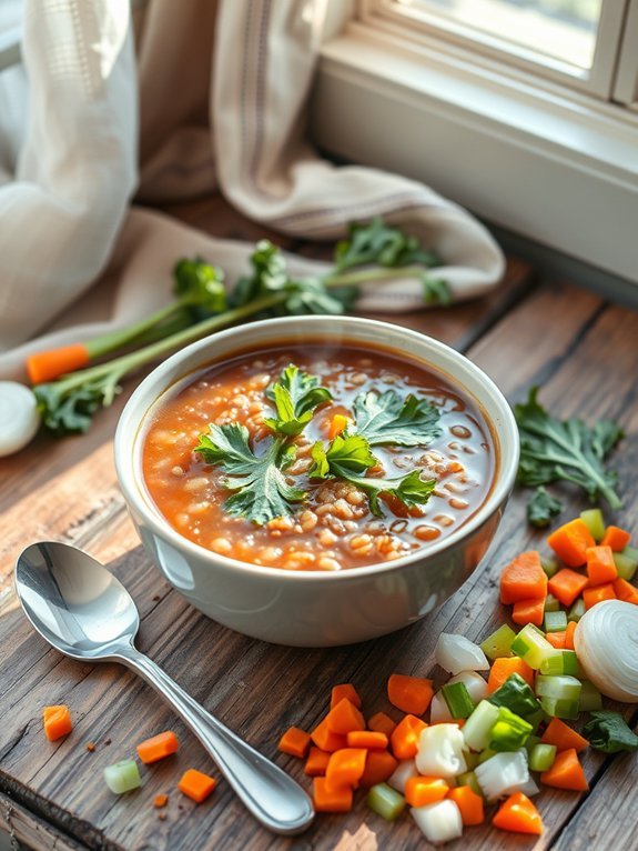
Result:
{"label": "large dark green leaf on table just right of the bowl", "polygon": [[614,422],[600,420],[589,428],[580,420],[557,420],[537,401],[538,388],[525,404],[514,408],[520,433],[518,481],[528,487],[569,481],[583,488],[591,501],[604,497],[612,509],[622,502],[614,490],[617,473],[604,461],[622,437]]}

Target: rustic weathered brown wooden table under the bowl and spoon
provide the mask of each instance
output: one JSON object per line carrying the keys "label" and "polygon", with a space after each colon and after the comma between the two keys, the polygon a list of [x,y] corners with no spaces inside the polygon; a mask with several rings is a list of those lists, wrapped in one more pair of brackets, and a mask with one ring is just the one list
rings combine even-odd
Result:
{"label": "rustic weathered brown wooden table under the bowl and spoon", "polygon": [[[217,236],[264,236],[220,200],[173,212]],[[538,282],[529,268],[510,260],[503,287],[488,298],[391,319],[465,352],[512,402],[541,384],[541,400],[557,416],[618,420],[627,437],[615,457],[625,498],[616,520],[638,531],[638,313],[567,282]],[[421,623],[378,641],[332,650],[264,644],[188,605],[142,551],[112,459],[115,422],[132,384],[98,417],[89,434],[61,441],[40,437],[27,451],[0,462],[0,825],[30,848],[58,851],[426,847],[412,819],[387,824],[363,803],[348,815],[320,815],[304,835],[284,840],[261,829],[225,782],[200,807],[171,791],[185,767],[214,774],[214,765],[141,680],[123,668],[93,668],[48,648],[18,607],[13,562],[29,542],[58,539],[107,563],[139,605],[140,648],[203,705],[307,784],[300,763],[277,753],[276,743],[290,724],[314,725],[332,684],[352,681],[366,707],[387,709],[387,675],[395,670],[427,675],[440,631],[480,639],[504,620],[495,587],[499,570],[524,549],[543,547],[541,535],[525,522],[525,498],[513,495],[480,567]],[[574,498],[565,517],[583,508]],[[70,704],[75,720],[72,735],[54,744],[42,733],[41,710],[48,703]],[[636,713],[624,711],[635,724]],[[141,790],[112,795],[102,780],[104,765],[169,728],[179,734],[179,754],[145,772]],[[94,752],[85,749],[90,741],[97,744]],[[591,791],[578,795],[545,789],[539,800],[545,833],[537,842],[488,827],[468,829],[460,842],[473,851],[637,848],[637,768],[638,754],[606,759],[588,752]],[[170,802],[160,814],[152,801],[165,791]]]}

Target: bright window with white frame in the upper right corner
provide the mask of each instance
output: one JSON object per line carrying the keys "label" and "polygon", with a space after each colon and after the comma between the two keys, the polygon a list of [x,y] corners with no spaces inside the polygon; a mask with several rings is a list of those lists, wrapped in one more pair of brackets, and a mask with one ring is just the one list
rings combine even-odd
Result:
{"label": "bright window with white frame in the upper right corner", "polygon": [[363,16],[412,39],[523,69],[636,108],[638,0],[365,0]]}

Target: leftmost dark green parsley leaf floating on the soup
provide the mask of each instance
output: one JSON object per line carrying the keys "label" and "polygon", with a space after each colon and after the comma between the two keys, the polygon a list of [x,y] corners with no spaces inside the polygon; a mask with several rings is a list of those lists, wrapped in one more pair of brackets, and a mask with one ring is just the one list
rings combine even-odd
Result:
{"label": "leftmost dark green parsley leaf floating on the soup", "polygon": [[256,525],[290,514],[290,503],[305,497],[284,475],[294,460],[294,447],[273,440],[257,457],[249,444],[245,426],[233,422],[209,428],[210,434],[200,434],[195,452],[205,463],[217,464],[229,473],[224,487],[235,492],[225,501],[225,511],[232,517],[245,517]]}

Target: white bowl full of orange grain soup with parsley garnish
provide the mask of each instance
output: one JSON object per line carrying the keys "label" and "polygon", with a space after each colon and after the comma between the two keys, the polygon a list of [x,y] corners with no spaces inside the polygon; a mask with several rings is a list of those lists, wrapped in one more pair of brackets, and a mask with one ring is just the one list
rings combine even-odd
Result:
{"label": "white bowl full of orange grain soup with parsley garnish", "polygon": [[469,360],[397,326],[276,319],[201,340],[135,390],[120,484],[166,579],[267,641],[412,623],[469,575],[518,462],[509,406]]}

